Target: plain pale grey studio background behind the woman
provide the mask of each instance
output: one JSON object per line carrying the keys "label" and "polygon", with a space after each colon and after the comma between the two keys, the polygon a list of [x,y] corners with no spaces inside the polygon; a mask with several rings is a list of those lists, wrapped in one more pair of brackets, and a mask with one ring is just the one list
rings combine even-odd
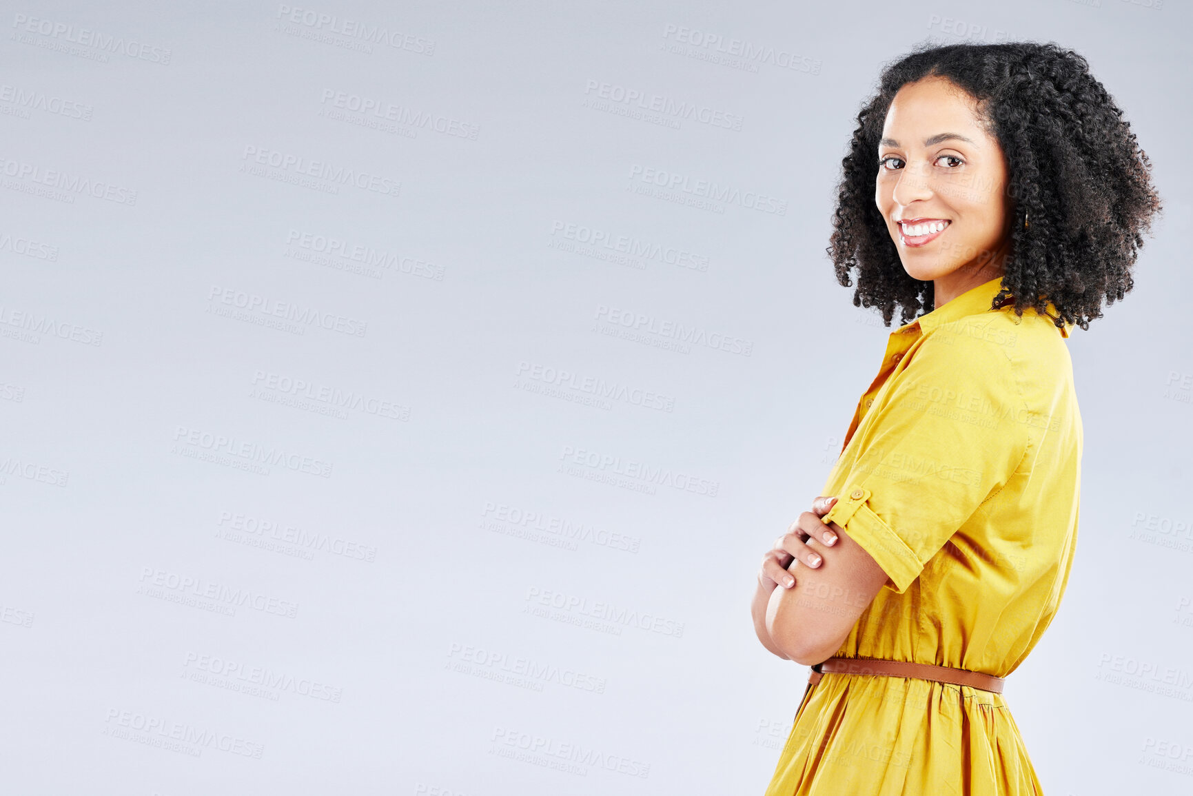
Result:
{"label": "plain pale grey studio background behind the woman", "polygon": [[885,329],[883,62],[1057,41],[1166,212],[1073,352],[1046,791],[1193,788],[1185,4],[5,4],[6,794],[760,794],[748,603]]}

